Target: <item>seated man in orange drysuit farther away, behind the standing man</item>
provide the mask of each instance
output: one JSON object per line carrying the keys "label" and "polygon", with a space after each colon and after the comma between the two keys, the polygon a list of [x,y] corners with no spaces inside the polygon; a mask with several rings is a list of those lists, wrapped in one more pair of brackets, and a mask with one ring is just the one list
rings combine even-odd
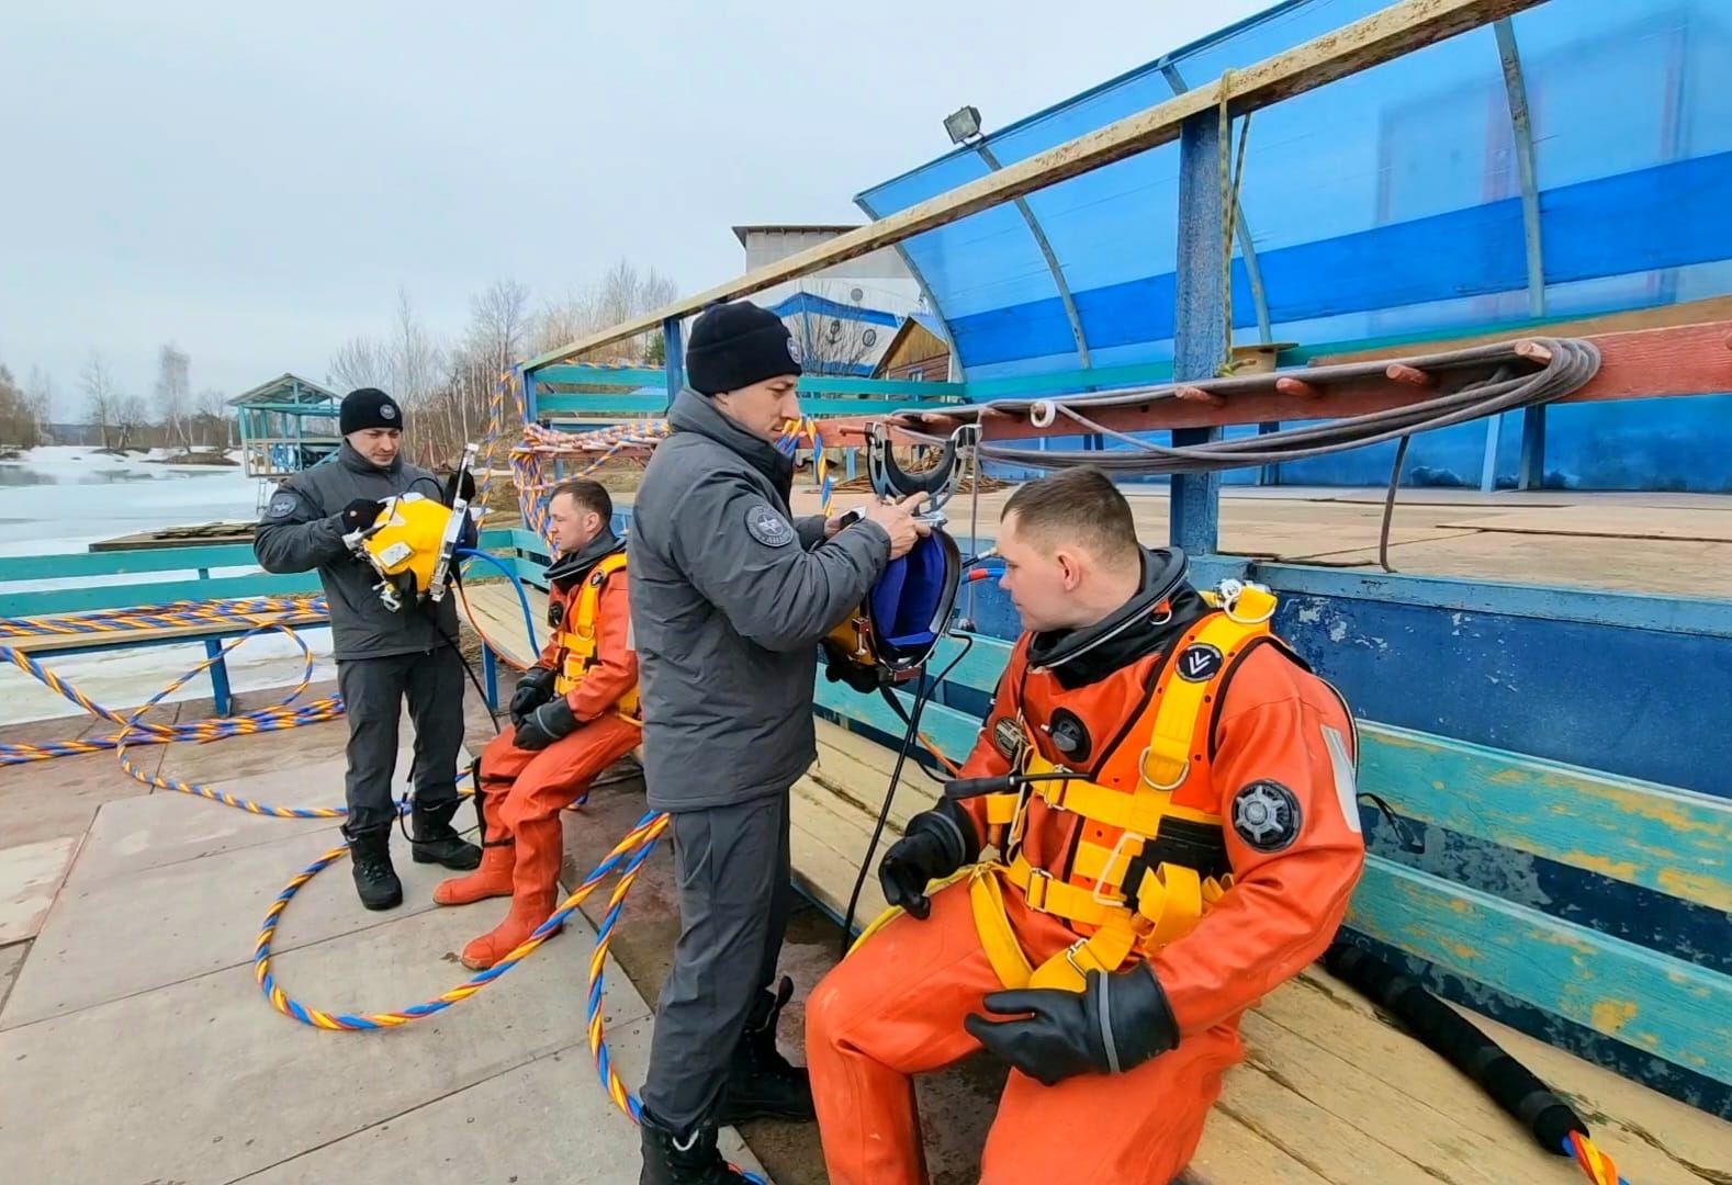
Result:
{"label": "seated man in orange drysuit farther away, behind the standing man", "polygon": [[433,890],[440,904],[511,896],[506,920],[462,949],[471,970],[492,967],[553,916],[565,856],[559,811],[643,738],[613,499],[578,478],[553,492],[547,515],[559,547],[547,568],[553,636],[518,679],[511,728],[476,762],[481,866]]}

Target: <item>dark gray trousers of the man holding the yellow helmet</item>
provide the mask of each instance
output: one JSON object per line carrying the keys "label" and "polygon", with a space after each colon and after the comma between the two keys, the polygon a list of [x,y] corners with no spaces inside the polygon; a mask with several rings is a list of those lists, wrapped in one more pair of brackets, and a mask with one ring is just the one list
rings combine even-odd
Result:
{"label": "dark gray trousers of the man holding the yellow helmet", "polygon": [[405,696],[416,731],[416,759],[409,773],[416,802],[433,809],[457,802],[462,677],[462,658],[449,646],[426,655],[336,664],[336,683],[348,716],[350,832],[390,826],[397,816],[391,778],[397,773],[397,721]]}

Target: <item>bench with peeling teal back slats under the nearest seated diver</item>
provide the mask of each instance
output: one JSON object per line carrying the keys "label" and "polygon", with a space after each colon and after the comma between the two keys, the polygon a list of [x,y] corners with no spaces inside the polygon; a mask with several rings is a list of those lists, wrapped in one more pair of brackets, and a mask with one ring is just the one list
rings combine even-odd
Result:
{"label": "bench with peeling teal back slats under the nearest seated diver", "polygon": [[[934,670],[956,644],[947,643]],[[973,638],[951,683],[991,695],[1008,653],[1003,641]],[[899,741],[902,724],[880,698],[823,676],[818,702],[826,719],[818,762],[795,787],[793,863],[800,889],[840,918],[895,762],[889,743]],[[921,719],[921,731],[953,761],[968,754],[977,728],[979,716],[942,703],[928,703]],[[1583,863],[1692,903],[1732,904],[1732,806],[1723,800],[1377,724],[1361,726],[1361,788],[1410,819]],[[937,783],[909,762],[875,866],[935,795]],[[1365,819],[1368,833],[1379,826],[1373,813]],[[1685,868],[1697,871],[1680,873]],[[873,870],[856,927],[880,910]],[[1370,856],[1347,925],[1659,1057],[1732,1076],[1727,975],[1384,856]],[[1727,1121],[1462,1012],[1573,1102],[1632,1183],[1732,1182]],[[1245,1064],[1228,1074],[1186,1173],[1195,1185],[1583,1180],[1322,967],[1264,998],[1245,1017],[1244,1038]]]}

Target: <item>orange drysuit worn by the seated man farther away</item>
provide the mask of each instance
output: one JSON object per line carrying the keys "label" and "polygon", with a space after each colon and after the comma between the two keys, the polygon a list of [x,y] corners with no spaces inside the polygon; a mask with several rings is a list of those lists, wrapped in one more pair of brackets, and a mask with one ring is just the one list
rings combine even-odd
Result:
{"label": "orange drysuit worn by the seated man farther away", "polygon": [[565,698],[575,728],[525,748],[520,728],[509,724],[481,752],[481,866],[435,890],[440,904],[511,894],[506,920],[464,948],[462,963],[473,970],[502,960],[553,916],[565,858],[559,811],[643,740],[624,544],[575,573],[556,563],[547,575],[554,629],[525,676],[553,674],[551,691]]}

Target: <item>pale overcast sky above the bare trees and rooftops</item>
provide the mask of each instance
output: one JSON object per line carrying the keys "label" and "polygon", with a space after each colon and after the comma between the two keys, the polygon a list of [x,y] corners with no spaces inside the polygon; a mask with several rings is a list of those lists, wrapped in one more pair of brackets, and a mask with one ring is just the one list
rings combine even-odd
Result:
{"label": "pale overcast sky above the bare trees and rooftops", "polygon": [[710,288],[731,225],[857,222],[965,102],[992,130],[1268,5],[0,7],[0,362],[68,418],[92,348],[139,395],[170,340],[194,390],[322,381],[398,284],[440,334],[495,277]]}

